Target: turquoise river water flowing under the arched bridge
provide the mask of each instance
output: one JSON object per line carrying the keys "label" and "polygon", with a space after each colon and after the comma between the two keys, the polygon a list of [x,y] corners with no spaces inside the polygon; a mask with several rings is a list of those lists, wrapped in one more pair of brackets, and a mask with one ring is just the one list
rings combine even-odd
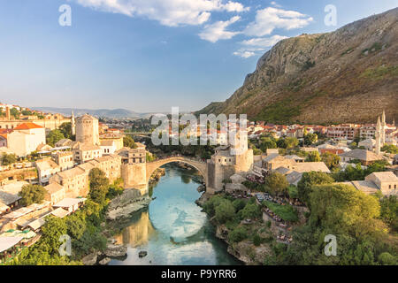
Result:
{"label": "turquoise river water flowing under the arched bridge", "polygon": [[[227,253],[226,243],[215,237],[208,217],[195,204],[201,194],[193,177],[191,170],[165,165],[165,176],[153,189],[156,199],[115,237],[128,246],[126,259],[110,264],[241,264]],[[148,255],[140,258],[143,250]]]}

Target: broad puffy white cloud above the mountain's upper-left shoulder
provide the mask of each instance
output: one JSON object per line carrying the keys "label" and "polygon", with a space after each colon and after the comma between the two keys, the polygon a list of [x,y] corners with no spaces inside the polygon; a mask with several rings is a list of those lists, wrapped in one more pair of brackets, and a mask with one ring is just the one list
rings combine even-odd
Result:
{"label": "broad puffy white cloud above the mountain's upper-left shoulder", "polygon": [[252,36],[271,34],[275,28],[294,29],[305,27],[313,19],[298,11],[285,11],[283,9],[268,7],[256,11],[256,19],[246,27],[244,33]]}

